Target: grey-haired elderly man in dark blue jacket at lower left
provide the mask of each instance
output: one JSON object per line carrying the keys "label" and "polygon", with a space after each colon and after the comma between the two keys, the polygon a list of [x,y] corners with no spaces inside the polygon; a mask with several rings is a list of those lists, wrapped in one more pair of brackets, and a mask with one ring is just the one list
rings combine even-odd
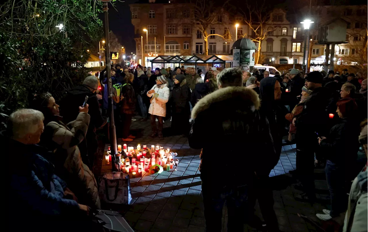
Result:
{"label": "grey-haired elderly man in dark blue jacket at lower left", "polygon": [[[50,231],[54,226],[66,228],[83,220],[88,214],[86,205],[78,204],[66,183],[54,174],[54,166],[41,155],[44,148],[36,145],[43,132],[43,114],[38,110],[20,109],[8,120],[8,134],[2,139],[7,145],[4,154],[14,153],[21,161],[20,168],[10,168],[11,207],[8,215],[26,215],[21,223],[18,217],[10,216],[14,231]],[[75,200],[73,200],[75,199]],[[75,228],[75,227],[74,227]]]}

